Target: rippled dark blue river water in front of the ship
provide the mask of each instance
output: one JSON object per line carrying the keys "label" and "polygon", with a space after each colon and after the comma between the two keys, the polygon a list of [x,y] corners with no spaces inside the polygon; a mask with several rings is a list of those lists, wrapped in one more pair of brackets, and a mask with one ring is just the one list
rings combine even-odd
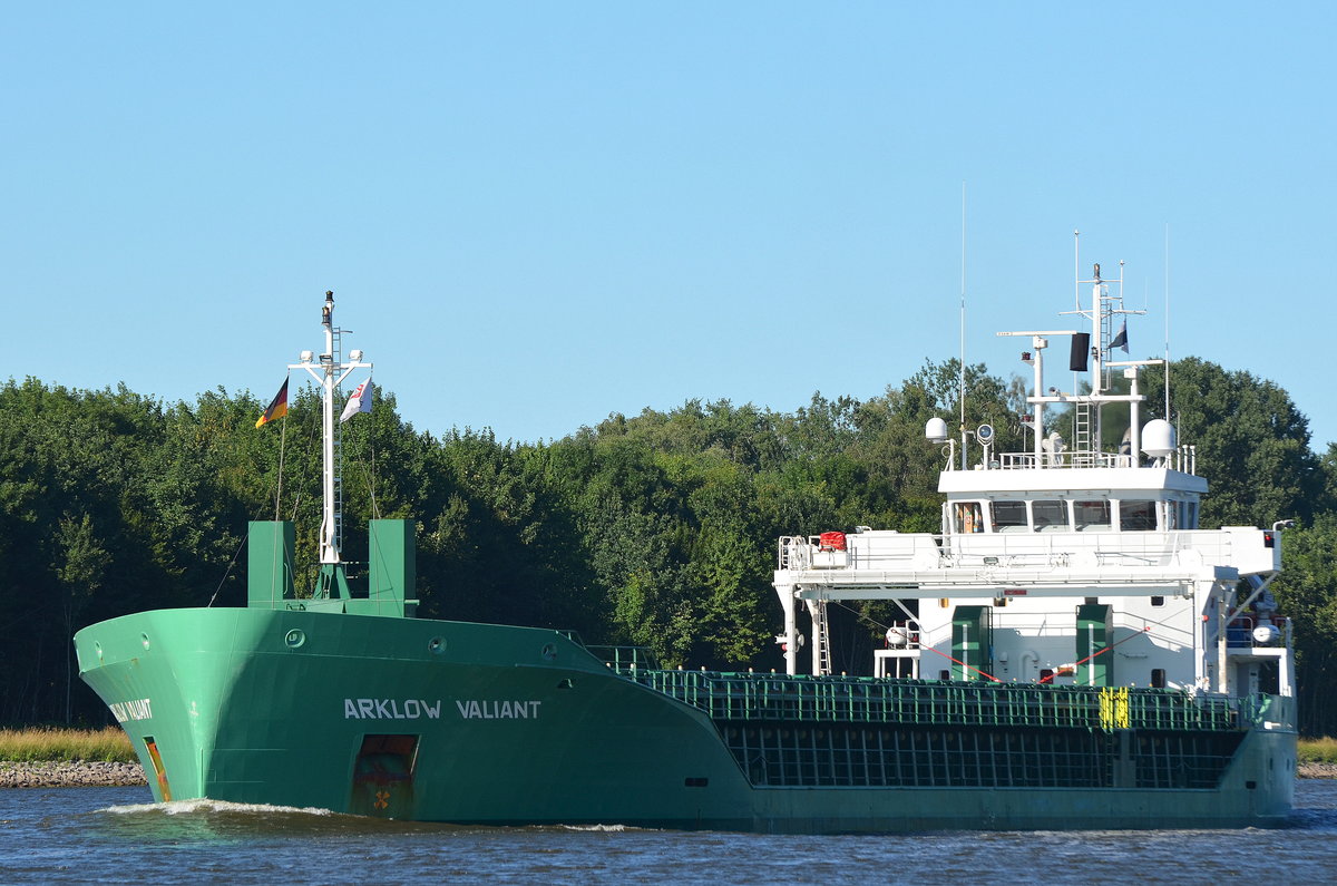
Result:
{"label": "rippled dark blue river water in front of the ship", "polygon": [[762,836],[455,827],[139,788],[0,790],[0,882],[1332,883],[1337,780],[1297,783],[1288,827]]}

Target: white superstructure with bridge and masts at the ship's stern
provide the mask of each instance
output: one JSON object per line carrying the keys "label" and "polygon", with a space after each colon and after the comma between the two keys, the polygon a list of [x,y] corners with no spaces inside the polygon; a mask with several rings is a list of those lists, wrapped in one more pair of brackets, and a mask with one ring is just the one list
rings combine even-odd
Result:
{"label": "white superstructure with bridge and masts at the ship's stern", "polygon": [[[988,426],[963,427],[960,443],[941,419],[925,428],[945,444],[941,534],[858,527],[779,541],[777,641],[789,673],[801,646],[813,673],[830,673],[829,602],[890,600],[898,617],[877,676],[1294,693],[1290,624],[1267,590],[1284,523],[1198,529],[1207,483],[1195,451],[1175,444],[1167,422],[1139,415],[1139,371],[1162,361],[1108,359],[1114,319],[1140,312],[1123,309],[1099,265],[1082,282],[1090,306],[1071,313],[1090,333],[999,333],[1029,339],[1027,451],[995,452]],[[1070,368],[1090,372],[1087,393],[1044,387],[1044,352],[1059,336],[1072,341]],[[1128,393],[1111,391],[1114,371]],[[1111,403],[1128,406],[1130,427],[1106,452]],[[1071,446],[1046,428],[1050,404],[1070,407]]]}

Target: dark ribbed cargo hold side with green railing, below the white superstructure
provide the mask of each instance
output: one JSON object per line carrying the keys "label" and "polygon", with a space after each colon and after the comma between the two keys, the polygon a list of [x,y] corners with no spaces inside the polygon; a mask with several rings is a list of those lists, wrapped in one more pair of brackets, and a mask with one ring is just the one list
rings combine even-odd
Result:
{"label": "dark ribbed cargo hold side with green railing, below the white superstructure", "polygon": [[1110,687],[620,673],[709,713],[765,788],[1214,790],[1249,731],[1292,709]]}

